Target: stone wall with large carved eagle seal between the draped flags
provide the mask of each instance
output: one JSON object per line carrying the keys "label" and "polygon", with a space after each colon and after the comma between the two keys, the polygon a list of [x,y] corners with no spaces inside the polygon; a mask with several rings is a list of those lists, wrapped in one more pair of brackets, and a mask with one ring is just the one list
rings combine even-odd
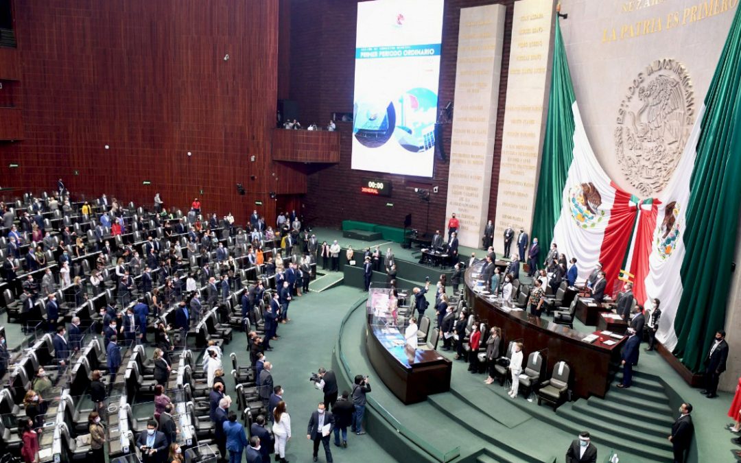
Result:
{"label": "stone wall with large carved eagle seal between the draped flags", "polygon": [[562,0],[576,101],[597,159],[619,187],[655,197],[671,178],[738,4]]}

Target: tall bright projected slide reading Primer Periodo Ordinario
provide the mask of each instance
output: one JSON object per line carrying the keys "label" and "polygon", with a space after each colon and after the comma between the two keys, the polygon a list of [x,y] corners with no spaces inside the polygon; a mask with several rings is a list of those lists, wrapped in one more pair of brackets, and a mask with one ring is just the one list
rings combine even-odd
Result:
{"label": "tall bright projected slide reading Primer Periodo Ordinario", "polygon": [[352,168],[431,177],[443,0],[358,4]]}

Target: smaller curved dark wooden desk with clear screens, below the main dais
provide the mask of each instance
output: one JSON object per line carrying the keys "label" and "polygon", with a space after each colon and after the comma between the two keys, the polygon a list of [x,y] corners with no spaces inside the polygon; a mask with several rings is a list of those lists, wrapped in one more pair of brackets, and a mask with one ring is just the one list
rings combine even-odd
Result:
{"label": "smaller curved dark wooden desk with clear screens, below the main dais", "polygon": [[391,324],[388,297],[391,290],[373,288],[366,304],[365,348],[368,359],[383,384],[404,404],[451,388],[453,362],[435,350],[405,347],[404,336]]}

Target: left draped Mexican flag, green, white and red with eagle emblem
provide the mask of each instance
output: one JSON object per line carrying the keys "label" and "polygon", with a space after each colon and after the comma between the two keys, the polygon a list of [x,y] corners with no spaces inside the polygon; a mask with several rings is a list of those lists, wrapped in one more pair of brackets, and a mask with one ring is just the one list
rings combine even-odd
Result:
{"label": "left draped Mexican flag, green, white and red with eagle emblem", "polygon": [[637,204],[607,176],[594,156],[574,97],[571,74],[556,21],[554,65],[533,237],[556,243],[576,258],[579,277],[602,263],[612,293],[631,238]]}

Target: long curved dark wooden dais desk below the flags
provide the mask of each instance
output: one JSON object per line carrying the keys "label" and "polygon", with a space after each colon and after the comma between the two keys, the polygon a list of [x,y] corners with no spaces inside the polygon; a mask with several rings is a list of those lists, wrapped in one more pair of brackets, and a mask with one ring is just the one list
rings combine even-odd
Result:
{"label": "long curved dark wooden dais desk below the flags", "polygon": [[[613,370],[617,369],[625,338],[617,339],[597,331],[581,333],[566,325],[530,316],[524,310],[508,310],[498,299],[476,289],[483,284],[478,279],[482,267],[482,262],[476,262],[465,273],[465,298],[473,314],[487,326],[500,327],[505,343],[515,339],[522,341],[525,358],[535,350],[548,349],[548,376],[556,362],[566,362],[571,367],[569,388],[576,396],[604,398],[610,387],[611,365],[615,367]],[[594,342],[585,342],[588,336],[595,338]]]}

